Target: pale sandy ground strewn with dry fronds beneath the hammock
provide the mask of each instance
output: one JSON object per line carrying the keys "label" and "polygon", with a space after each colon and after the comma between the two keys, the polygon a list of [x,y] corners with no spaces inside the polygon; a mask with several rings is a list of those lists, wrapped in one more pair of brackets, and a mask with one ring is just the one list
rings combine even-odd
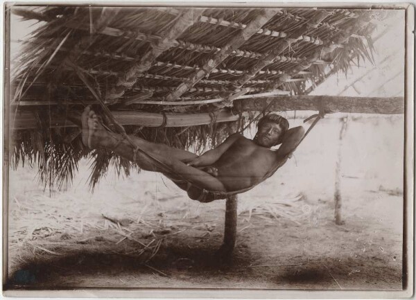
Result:
{"label": "pale sandy ground strewn with dry fronds beneath the hammock", "polygon": [[[300,123],[291,120],[292,125]],[[161,175],[87,163],[69,191],[10,173],[10,288],[401,290],[403,118],[349,121],[333,222],[340,123],[322,121],[272,178],[239,195],[232,261],[218,263],[225,202],[200,204]]]}

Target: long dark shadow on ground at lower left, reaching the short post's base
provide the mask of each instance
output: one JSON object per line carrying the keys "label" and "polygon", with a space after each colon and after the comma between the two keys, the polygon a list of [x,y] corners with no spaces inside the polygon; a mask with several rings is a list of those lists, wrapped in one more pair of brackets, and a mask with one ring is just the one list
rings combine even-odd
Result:
{"label": "long dark shadow on ground at lower left, reaching the short post's base", "polygon": [[[42,259],[26,261],[10,274],[6,289],[62,289],[76,288],[83,278],[99,276],[102,279],[118,276],[157,275],[170,278],[177,274],[191,276],[223,276],[224,272],[238,273],[244,269],[250,273],[250,253],[236,253],[232,257],[220,257],[216,247],[189,247],[188,245],[165,245],[153,257],[151,253],[141,256],[117,254],[110,251],[92,253],[77,249],[65,256],[42,256]],[[68,279],[68,280],[66,280]],[[69,280],[71,279],[71,280]],[[74,279],[78,279],[75,280]],[[220,280],[220,279],[218,279]],[[111,280],[110,280],[111,281]],[[79,285],[78,285],[79,286]],[[84,288],[87,287],[82,285]],[[97,288],[98,286],[90,286]],[[110,288],[111,285],[108,285]]]}

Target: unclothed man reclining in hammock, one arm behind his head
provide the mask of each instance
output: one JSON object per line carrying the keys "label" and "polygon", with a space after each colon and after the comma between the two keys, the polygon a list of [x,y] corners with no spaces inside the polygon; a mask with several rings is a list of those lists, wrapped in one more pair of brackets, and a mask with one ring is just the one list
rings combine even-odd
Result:
{"label": "unclothed man reclining in hammock, one arm behind his head", "polygon": [[[198,157],[186,150],[130,136],[141,150],[135,153],[121,134],[105,130],[89,107],[83,112],[82,123],[83,143],[89,148],[110,149],[135,161],[143,170],[163,173],[199,202],[224,199],[227,194],[241,193],[259,184],[286,162],[304,136],[302,126],[289,130],[286,118],[268,114],[260,119],[254,139],[232,134]],[[279,143],[279,149],[270,150]]]}

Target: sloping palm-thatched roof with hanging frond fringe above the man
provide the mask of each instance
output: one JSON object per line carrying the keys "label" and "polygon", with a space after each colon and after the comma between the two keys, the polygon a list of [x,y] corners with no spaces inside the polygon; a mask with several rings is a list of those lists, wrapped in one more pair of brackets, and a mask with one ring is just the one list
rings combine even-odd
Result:
{"label": "sloping palm-thatched roof with hanging frond fringe above the man", "polygon": [[[60,187],[82,157],[94,157],[93,184],[111,161],[130,168],[110,151],[83,146],[70,121],[85,105],[100,110],[103,101],[130,134],[202,149],[252,119],[236,112],[234,101],[306,94],[329,71],[372,59],[368,10],[44,6],[12,12],[41,22],[13,73],[12,158],[37,161],[41,179]],[[209,121],[171,121],[175,114]]]}

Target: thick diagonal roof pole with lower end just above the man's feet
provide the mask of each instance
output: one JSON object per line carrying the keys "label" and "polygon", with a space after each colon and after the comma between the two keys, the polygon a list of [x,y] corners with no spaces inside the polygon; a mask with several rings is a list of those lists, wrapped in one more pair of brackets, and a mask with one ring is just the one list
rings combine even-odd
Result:
{"label": "thick diagonal roof pole with lower end just above the man's feet", "polygon": [[130,69],[125,73],[124,76],[119,78],[119,81],[116,84],[116,87],[113,87],[109,93],[105,95],[106,102],[113,101],[116,102],[118,98],[123,96],[125,91],[130,89],[137,78],[144,72],[148,71],[150,67],[153,66],[156,58],[161,55],[168,48],[173,46],[173,41],[179,37],[184,30],[192,26],[195,21],[200,17],[202,10],[187,9],[182,12],[182,15],[178,17],[175,24],[171,26],[167,33],[162,36],[153,47],[141,56],[139,62],[134,64]]}

